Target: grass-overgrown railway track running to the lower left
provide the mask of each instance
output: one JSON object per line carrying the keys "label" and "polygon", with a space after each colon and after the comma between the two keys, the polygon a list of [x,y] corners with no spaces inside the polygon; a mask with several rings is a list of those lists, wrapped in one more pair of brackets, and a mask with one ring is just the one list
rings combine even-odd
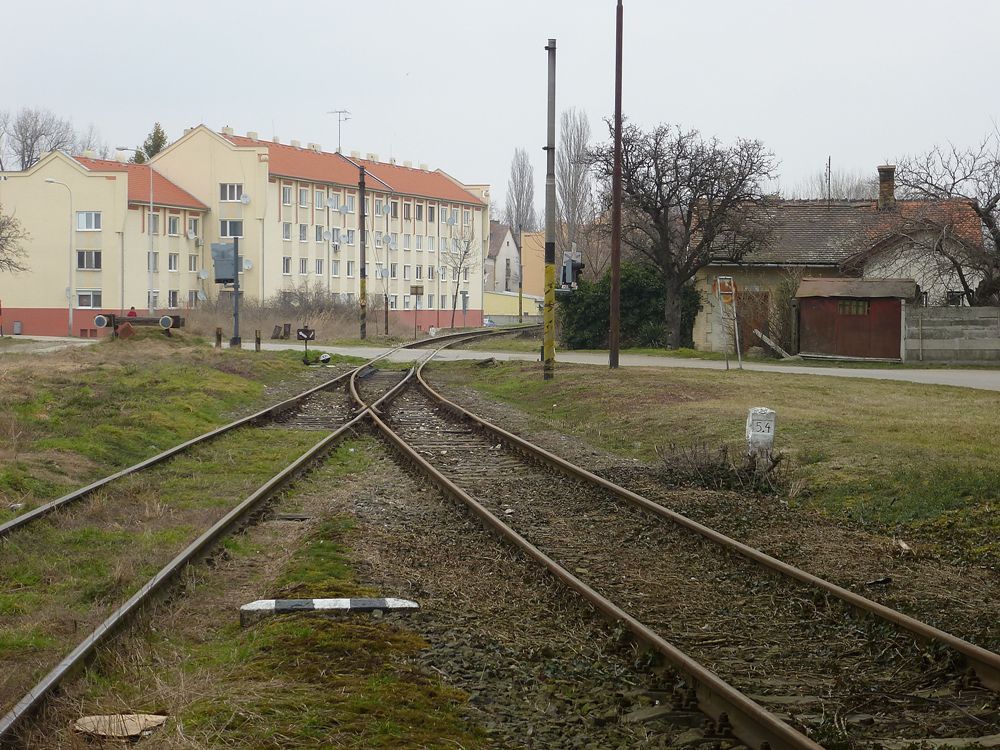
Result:
{"label": "grass-overgrown railway track running to the lower left", "polygon": [[[461,332],[441,336],[433,341],[464,341],[477,336],[502,335],[508,332],[510,331]],[[427,343],[415,342],[397,349],[418,347]],[[405,373],[379,371],[373,367],[376,362],[391,353],[390,351],[376,357],[293,398],[188,440],[0,525],[0,545],[2,545],[0,552],[11,557],[11,562],[6,567],[16,576],[9,583],[13,586],[17,600],[25,603],[21,608],[15,607],[15,612],[30,622],[45,621],[55,613],[55,616],[66,620],[66,626],[57,630],[68,630],[70,633],[75,633],[81,628],[86,632],[92,628],[82,641],[72,648],[67,646],[65,649],[61,649],[59,644],[52,645],[45,639],[36,638],[38,634],[29,628],[27,630],[29,640],[26,641],[24,650],[27,652],[41,650],[46,654],[55,655],[48,659],[34,660],[30,664],[19,663],[9,658],[4,660],[0,656],[0,712],[6,712],[0,713],[0,745],[15,743],[19,727],[60,682],[83,664],[99,644],[125,625],[146,601],[162,591],[184,566],[205,554],[226,533],[244,523],[263,503],[297,474],[308,469],[315,461],[321,460],[338,440],[361,422],[367,413],[367,407],[359,406],[356,398],[351,400],[347,398],[347,391],[356,394],[356,383],[359,380],[368,380],[366,393],[369,394],[369,399],[373,398],[371,395],[373,391],[381,389],[382,393],[374,397],[376,404],[379,402],[379,395],[391,393],[392,389],[401,383]],[[344,392],[337,393],[340,389]],[[179,460],[181,457],[190,456],[197,450],[206,449],[206,446],[231,439],[242,430],[257,429],[274,431],[267,436],[266,441],[260,441],[268,447],[279,445],[281,435],[291,434],[299,437],[290,441],[290,444],[285,446],[286,449],[294,450],[299,443],[308,447],[301,455],[295,451],[294,460],[281,467],[256,489],[252,489],[242,500],[228,504],[215,503],[215,508],[209,504],[207,511],[201,509],[201,515],[207,513],[211,516],[211,520],[205,522],[203,518],[199,519],[200,529],[192,525],[191,514],[185,515],[184,503],[173,507],[168,495],[163,496],[162,502],[161,499],[157,499],[154,502],[155,515],[158,519],[155,525],[160,536],[152,538],[154,541],[161,537],[172,539],[175,548],[180,546],[176,540],[183,540],[184,545],[177,554],[167,560],[163,558],[174,550],[166,553],[163,549],[150,545],[150,534],[148,529],[144,529],[147,524],[145,519],[139,517],[142,514],[135,505],[128,502],[109,503],[107,500],[109,493],[112,493],[113,500],[125,499],[113,497],[115,489],[123,482],[138,481],[139,477],[145,477],[150,471],[168,465],[172,459]],[[304,432],[321,432],[323,437],[318,440],[302,437]],[[227,450],[225,445],[221,450],[224,453],[232,453],[232,450]],[[92,513],[81,504],[84,500],[94,502],[100,512]],[[147,515],[148,508],[147,502]],[[201,523],[205,525],[200,525]],[[39,570],[22,570],[18,560],[20,551],[27,548],[44,548],[47,541],[53,537],[53,530],[66,532],[63,536],[56,533],[56,538],[71,540],[69,547],[58,550],[62,556],[60,564],[69,570],[91,565],[93,540],[103,540],[110,535],[117,545],[115,548],[117,557],[112,557],[107,562],[112,569],[109,576],[114,579],[124,579],[118,581],[121,585],[117,587],[121,590],[121,598],[124,601],[119,599],[117,602],[111,602],[111,597],[95,595],[95,602],[87,608],[87,611],[67,612],[60,599],[65,592],[59,588],[59,582],[53,578],[53,574],[44,570],[47,561],[40,559],[36,563]],[[201,533],[198,533],[199,530]],[[147,555],[148,560],[145,559]],[[143,558],[143,565],[138,572],[128,569],[132,563],[116,562],[129,558],[133,560]],[[141,584],[138,581],[133,584],[132,581],[137,579],[153,561],[157,561],[157,565],[162,564],[162,567]],[[119,567],[122,568],[121,571]],[[7,621],[4,624],[9,627],[11,618],[5,619]],[[67,639],[69,637],[67,636]],[[32,638],[36,640],[30,640]],[[39,643],[45,643],[46,647],[36,648]],[[35,682],[40,674],[41,678]]]}

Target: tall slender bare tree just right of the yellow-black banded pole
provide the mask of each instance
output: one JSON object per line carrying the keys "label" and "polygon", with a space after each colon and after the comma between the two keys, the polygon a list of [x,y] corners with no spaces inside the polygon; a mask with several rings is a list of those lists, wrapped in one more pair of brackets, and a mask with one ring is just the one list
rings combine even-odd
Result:
{"label": "tall slender bare tree just right of the yellow-black banded pole", "polygon": [[556,196],[560,249],[578,246],[583,252],[584,229],[593,221],[594,200],[590,173],[590,123],[575,107],[559,118],[559,149],[556,151]]}

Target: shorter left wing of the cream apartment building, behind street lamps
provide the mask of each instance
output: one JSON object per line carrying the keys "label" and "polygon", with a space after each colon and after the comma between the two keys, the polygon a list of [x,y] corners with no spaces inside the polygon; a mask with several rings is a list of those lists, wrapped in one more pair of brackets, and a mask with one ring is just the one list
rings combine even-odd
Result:
{"label": "shorter left wing of the cream apartment building, behind street lamps", "polygon": [[54,151],[0,173],[0,206],[28,234],[28,269],[0,274],[5,334],[95,337],[98,312],[162,314],[212,292],[199,273],[208,206],[147,165]]}

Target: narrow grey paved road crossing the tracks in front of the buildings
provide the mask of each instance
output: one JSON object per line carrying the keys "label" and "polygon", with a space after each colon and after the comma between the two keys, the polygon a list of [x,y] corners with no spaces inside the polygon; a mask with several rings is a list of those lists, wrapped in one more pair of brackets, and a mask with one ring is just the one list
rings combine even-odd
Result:
{"label": "narrow grey paved road crossing the tracks in front of the buildings", "polygon": [[[294,344],[264,343],[265,349],[301,349]],[[245,345],[244,345],[245,347]],[[309,347],[310,350],[344,354],[352,357],[371,358],[387,351],[378,347],[343,346]],[[412,362],[423,357],[427,349],[403,349],[390,355],[396,362]],[[538,355],[528,352],[491,352],[482,349],[445,349],[438,355],[446,360],[478,360],[493,357],[499,361],[533,362]],[[569,362],[582,365],[607,367],[608,355],[599,352],[557,352],[556,363]],[[711,359],[684,359],[681,357],[657,357],[647,354],[623,354],[619,358],[622,367],[680,367],[695,370],[724,370],[726,363]],[[735,364],[733,365],[735,367]],[[897,380],[907,383],[927,385],[952,385],[959,388],[977,388],[985,391],[1000,391],[1000,369],[959,370],[934,369],[918,370],[910,368],[868,369],[849,367],[805,367],[802,365],[744,363],[747,370],[758,372],[781,372],[791,375],[820,375],[834,378],[869,378],[871,380]]]}

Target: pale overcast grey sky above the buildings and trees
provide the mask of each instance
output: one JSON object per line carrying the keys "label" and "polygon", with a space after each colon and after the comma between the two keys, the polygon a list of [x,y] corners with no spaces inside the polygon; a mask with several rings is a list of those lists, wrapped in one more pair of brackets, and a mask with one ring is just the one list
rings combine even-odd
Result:
{"label": "pale overcast grey sky above the buildings and trees", "polygon": [[[337,142],[489,182],[528,149],[544,192],[546,58],[557,107],[606,138],[614,0],[46,0],[4,3],[0,109],[47,107],[109,145],[159,120]],[[994,127],[991,0],[625,0],[624,105],[643,126],[761,139],[791,187]]]}

